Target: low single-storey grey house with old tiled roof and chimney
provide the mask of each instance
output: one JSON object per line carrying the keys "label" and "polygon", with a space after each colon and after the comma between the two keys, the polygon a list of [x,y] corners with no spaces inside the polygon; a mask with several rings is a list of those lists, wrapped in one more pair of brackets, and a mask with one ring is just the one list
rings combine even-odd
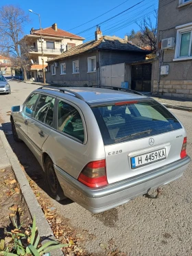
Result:
{"label": "low single-storey grey house with old tiled roof and chimney", "polygon": [[[64,51],[59,57],[47,61],[49,66],[46,80],[67,86],[101,85],[104,81],[104,67],[145,60],[147,53],[128,40],[99,34],[95,40]],[[122,68],[124,71],[123,65]],[[118,73],[116,76],[120,78]]]}

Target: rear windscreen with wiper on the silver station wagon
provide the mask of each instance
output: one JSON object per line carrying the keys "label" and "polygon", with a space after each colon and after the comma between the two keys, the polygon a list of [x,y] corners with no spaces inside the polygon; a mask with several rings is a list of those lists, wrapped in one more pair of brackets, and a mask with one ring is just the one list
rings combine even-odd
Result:
{"label": "rear windscreen with wiper on the silver station wagon", "polygon": [[153,100],[92,108],[104,145],[159,135],[182,128],[169,110]]}

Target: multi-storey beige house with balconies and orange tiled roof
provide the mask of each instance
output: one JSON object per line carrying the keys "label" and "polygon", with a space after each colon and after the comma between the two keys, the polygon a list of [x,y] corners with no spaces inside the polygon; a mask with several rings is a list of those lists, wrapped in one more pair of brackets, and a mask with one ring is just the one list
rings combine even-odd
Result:
{"label": "multi-storey beige house with balconies and orange tiled roof", "polygon": [[[56,56],[62,54],[63,51],[71,49],[77,45],[83,43],[84,38],[71,34],[67,31],[60,30],[56,23],[51,27],[47,27],[41,30],[42,43],[43,43],[43,60],[44,67],[47,67],[47,61]],[[30,67],[27,76],[36,81],[43,80],[43,62],[42,62],[42,52],[41,52],[41,40],[40,40],[40,30],[32,30],[30,34],[25,36],[25,39],[29,44],[29,58],[32,61],[32,66]]]}

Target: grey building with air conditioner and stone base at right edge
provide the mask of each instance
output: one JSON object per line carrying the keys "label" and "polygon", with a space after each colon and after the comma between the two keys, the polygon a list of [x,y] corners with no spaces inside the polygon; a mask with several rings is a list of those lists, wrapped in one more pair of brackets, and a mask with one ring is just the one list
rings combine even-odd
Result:
{"label": "grey building with air conditioner and stone base at right edge", "polygon": [[153,92],[192,98],[192,1],[159,0]]}

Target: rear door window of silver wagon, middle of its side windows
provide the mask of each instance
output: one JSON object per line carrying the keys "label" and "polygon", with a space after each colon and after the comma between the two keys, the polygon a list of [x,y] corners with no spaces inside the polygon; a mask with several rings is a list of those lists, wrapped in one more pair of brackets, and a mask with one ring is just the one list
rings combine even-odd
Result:
{"label": "rear door window of silver wagon, middle of its side windows", "polygon": [[45,117],[47,115],[47,110],[53,100],[53,97],[47,95],[40,95],[38,100],[38,104],[36,105],[36,110],[34,113],[34,118],[38,121],[42,121],[44,123]]}

